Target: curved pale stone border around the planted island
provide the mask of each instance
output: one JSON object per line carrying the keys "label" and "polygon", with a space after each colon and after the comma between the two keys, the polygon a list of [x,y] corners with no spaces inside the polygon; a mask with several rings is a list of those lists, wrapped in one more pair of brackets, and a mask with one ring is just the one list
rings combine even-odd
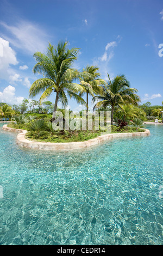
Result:
{"label": "curved pale stone border around the planted island", "polygon": [[91,147],[93,145],[97,145],[98,143],[104,141],[110,141],[114,138],[122,138],[122,137],[146,137],[150,135],[150,131],[147,129],[144,132],[127,132],[127,133],[109,133],[105,135],[98,136],[93,139],[89,139],[89,141],[84,142],[65,142],[65,143],[56,143],[56,142],[35,142],[29,141],[25,138],[26,130],[21,129],[13,129],[8,127],[7,125],[3,125],[3,130],[18,132],[16,143],[23,148],[29,149],[43,149],[43,150],[55,150],[55,151],[69,151],[69,150],[78,150]]}

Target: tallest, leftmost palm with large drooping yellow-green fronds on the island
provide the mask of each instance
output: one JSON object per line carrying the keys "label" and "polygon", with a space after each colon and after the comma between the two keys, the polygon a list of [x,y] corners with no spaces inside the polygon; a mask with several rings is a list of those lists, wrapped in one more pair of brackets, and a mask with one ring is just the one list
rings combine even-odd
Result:
{"label": "tallest, leftmost palm with large drooping yellow-green fronds on the island", "polygon": [[69,50],[67,49],[67,43],[67,41],[59,42],[55,48],[49,43],[47,54],[34,53],[37,63],[33,68],[33,72],[34,74],[42,74],[43,78],[36,80],[32,84],[29,96],[34,97],[42,93],[39,100],[41,103],[53,92],[56,93],[54,111],[57,111],[58,101],[64,107],[67,106],[67,95],[76,99],[78,103],[86,105],[82,97],[77,94],[83,91],[82,85],[72,82],[80,74],[77,69],[72,68],[74,60],[77,59],[79,48]]}

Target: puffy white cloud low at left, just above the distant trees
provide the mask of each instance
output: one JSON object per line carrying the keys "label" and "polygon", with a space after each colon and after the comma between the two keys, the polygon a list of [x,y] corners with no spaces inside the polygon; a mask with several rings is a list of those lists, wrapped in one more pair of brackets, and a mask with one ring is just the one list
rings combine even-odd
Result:
{"label": "puffy white cloud low at left, just above the distant trees", "polygon": [[21,96],[18,96],[16,97],[15,96],[15,87],[13,86],[8,86],[6,87],[3,92],[0,92],[0,101],[1,102],[5,102],[5,103],[8,103],[8,104],[20,104],[22,103],[24,97],[21,97]]}

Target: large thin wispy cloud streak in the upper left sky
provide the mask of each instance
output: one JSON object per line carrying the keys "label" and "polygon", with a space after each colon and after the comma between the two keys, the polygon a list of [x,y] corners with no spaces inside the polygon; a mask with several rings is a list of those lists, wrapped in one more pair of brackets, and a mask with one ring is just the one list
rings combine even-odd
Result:
{"label": "large thin wispy cloud streak in the upper left sky", "polygon": [[15,47],[28,51],[30,54],[46,50],[49,36],[34,23],[20,20],[15,26],[9,26],[5,22],[0,22],[0,24],[10,33],[9,37],[4,35],[4,38]]}

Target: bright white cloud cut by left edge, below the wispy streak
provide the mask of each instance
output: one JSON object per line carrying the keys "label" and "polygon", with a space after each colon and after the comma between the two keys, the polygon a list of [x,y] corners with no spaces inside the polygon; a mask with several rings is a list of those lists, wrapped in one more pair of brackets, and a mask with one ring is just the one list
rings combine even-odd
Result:
{"label": "bright white cloud cut by left edge, below the wispy streak", "polygon": [[9,41],[4,40],[0,37],[0,45],[1,45],[1,56],[0,56],[0,78],[8,79],[9,78],[9,68],[10,65],[16,65],[16,53],[9,46]]}

